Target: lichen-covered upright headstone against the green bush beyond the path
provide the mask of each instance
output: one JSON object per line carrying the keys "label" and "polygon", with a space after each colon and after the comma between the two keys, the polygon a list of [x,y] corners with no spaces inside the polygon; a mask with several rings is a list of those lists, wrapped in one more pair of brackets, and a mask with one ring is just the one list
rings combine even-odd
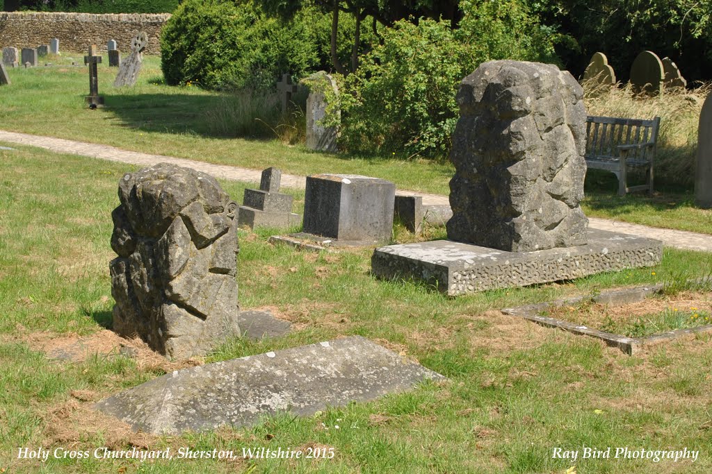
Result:
{"label": "lichen-covered upright headstone against the green bush beyond the path", "polygon": [[[329,107],[339,94],[336,81],[324,71],[317,72],[304,81],[309,87],[306,108],[306,145],[310,150],[337,151],[337,126],[341,111]],[[332,102],[335,103],[335,102]],[[325,123],[326,122],[326,123]]]}

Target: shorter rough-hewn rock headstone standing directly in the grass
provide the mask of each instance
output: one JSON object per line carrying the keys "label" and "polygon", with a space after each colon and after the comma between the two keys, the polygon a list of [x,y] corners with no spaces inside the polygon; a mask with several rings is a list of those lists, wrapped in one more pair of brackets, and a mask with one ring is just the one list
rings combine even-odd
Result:
{"label": "shorter rough-hewn rock headstone standing directly in the grass", "polygon": [[169,357],[239,335],[237,205],[205,173],[159,163],[119,181],[114,330]]}

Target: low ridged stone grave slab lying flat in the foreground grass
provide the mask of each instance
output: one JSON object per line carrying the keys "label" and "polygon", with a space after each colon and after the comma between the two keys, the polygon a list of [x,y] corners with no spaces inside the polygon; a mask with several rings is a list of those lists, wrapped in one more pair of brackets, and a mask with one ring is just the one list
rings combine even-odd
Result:
{"label": "low ridged stone grave slab lying flat in the foreground grass", "polygon": [[360,336],[267,352],[167,374],[95,408],[147,433],[256,424],[289,411],[369,402],[442,375]]}

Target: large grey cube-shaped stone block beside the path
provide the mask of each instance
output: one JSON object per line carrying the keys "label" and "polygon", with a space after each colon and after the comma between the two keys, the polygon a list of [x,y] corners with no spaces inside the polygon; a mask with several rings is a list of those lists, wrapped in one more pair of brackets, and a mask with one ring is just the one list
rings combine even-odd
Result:
{"label": "large grey cube-shaped stone block beside the path", "polygon": [[393,232],[394,200],[395,185],[383,179],[308,176],[303,231],[337,240],[387,242]]}

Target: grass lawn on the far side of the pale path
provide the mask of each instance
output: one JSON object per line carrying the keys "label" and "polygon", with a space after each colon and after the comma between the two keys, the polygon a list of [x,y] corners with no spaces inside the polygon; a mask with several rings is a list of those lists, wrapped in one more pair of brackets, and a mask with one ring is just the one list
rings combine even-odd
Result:
{"label": "grass lawn on the far side of the pale path", "polygon": [[[72,58],[82,63],[83,53],[50,56],[51,68],[11,69],[12,85],[0,88],[0,129],[253,169],[277,166],[299,175],[358,173],[388,179],[403,189],[449,193],[454,168],[447,161],[312,153],[302,145],[284,144],[276,134],[274,139],[236,138],[218,119],[234,97],[164,85],[157,57],[145,58],[136,87],[121,89],[112,87],[116,69],[108,68],[104,58],[99,90],[106,107],[90,110],[83,101],[88,72],[84,66],[71,67]],[[590,174],[583,206],[592,217],[712,234],[712,211],[695,208],[689,189],[663,186],[653,198],[617,198],[612,173]]]}

